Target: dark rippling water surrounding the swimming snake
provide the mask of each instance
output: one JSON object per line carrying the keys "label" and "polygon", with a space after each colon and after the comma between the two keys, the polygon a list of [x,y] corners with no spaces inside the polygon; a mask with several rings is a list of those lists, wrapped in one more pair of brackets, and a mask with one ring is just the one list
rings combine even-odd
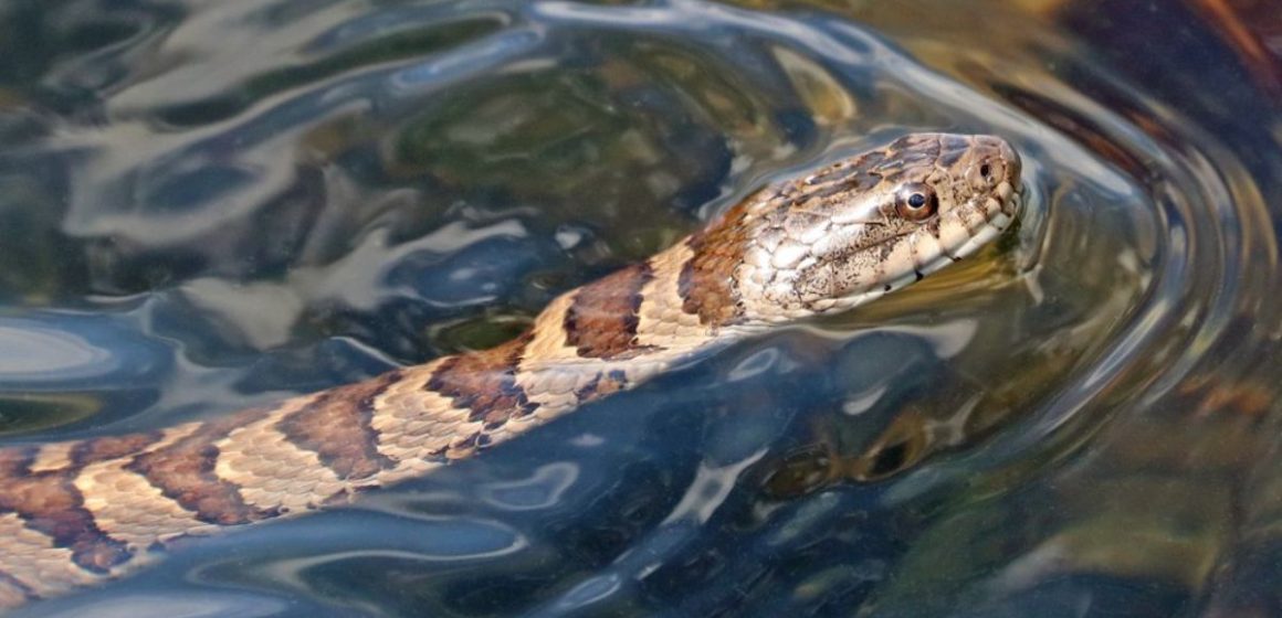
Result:
{"label": "dark rippling water surrounding the swimming snake", "polygon": [[0,4],[0,435],[523,328],[764,180],[1017,143],[979,260],[24,615],[1282,615],[1267,3]]}

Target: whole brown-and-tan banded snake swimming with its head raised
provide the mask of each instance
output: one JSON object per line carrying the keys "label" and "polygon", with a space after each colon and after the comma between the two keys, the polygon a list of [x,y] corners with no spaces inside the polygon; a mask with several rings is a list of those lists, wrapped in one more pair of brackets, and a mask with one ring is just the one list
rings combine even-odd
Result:
{"label": "whole brown-and-tan banded snake swimming with its head raised", "polygon": [[877,298],[996,238],[1019,187],[999,138],[912,134],[767,187],[496,348],[204,422],[5,447],[0,608],[121,574],[177,537],[346,503],[773,324]]}

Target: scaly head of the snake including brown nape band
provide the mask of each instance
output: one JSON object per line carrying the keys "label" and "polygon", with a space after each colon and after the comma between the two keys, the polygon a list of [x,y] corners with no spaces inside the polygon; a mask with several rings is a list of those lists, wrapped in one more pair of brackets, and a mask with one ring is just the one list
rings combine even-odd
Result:
{"label": "scaly head of the snake including brown nape band", "polygon": [[997,238],[1020,188],[1005,139],[914,133],[745,200],[691,242],[691,265],[728,275],[713,283],[738,324],[841,311]]}

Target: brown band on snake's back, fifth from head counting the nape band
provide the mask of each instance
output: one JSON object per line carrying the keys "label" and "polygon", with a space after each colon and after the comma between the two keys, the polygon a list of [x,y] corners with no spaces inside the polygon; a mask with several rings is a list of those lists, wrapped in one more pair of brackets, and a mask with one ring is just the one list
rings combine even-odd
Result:
{"label": "brown band on snake's back, fifth from head counting the nape band", "polygon": [[173,444],[140,454],[126,470],[142,475],[165,498],[203,522],[232,526],[276,517],[277,509],[246,504],[240,486],[214,471],[219,454],[214,443],[267,413],[269,411],[253,408],[209,421]]}

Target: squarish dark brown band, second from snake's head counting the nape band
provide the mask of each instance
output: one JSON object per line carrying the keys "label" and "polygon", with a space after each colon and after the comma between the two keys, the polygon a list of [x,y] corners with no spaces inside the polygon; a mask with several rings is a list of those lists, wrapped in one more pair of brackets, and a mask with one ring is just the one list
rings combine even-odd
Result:
{"label": "squarish dark brown band, second from snake's head counting the nape band", "polygon": [[565,311],[565,343],[585,358],[628,358],[636,348],[641,289],[653,276],[645,262],[633,264],[579,288]]}

